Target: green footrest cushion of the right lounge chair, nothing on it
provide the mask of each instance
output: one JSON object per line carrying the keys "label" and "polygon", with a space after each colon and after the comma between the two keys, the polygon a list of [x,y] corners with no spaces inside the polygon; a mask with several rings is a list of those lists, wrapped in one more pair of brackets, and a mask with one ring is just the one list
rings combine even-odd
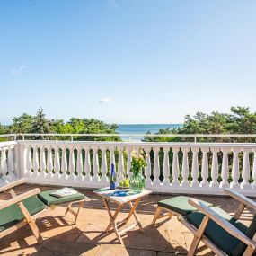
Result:
{"label": "green footrest cushion of the right lounge chair, nothing on it", "polygon": [[[162,201],[159,201],[157,204],[159,207],[164,207],[172,210],[173,212],[179,213],[182,216],[187,216],[191,212],[197,210],[195,207],[192,207],[188,200],[189,197],[179,196],[174,197],[171,199],[164,199]],[[210,203],[207,203],[206,201],[200,200],[201,203],[203,203],[207,207],[212,207],[213,205]]]}

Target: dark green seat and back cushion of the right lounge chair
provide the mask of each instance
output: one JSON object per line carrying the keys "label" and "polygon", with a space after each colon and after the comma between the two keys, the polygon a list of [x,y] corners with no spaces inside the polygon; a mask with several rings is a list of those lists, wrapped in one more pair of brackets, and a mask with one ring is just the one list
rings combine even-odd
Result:
{"label": "dark green seat and back cushion of the right lounge chair", "polygon": [[[234,217],[227,214],[221,208],[211,207],[211,209],[214,210],[218,215],[224,217],[225,220],[238,228],[241,232],[243,232],[243,234],[248,232],[248,227],[246,225],[243,225],[241,222],[235,220]],[[204,216],[205,215],[201,212],[195,211],[187,216],[187,220],[190,222],[190,224],[199,228],[199,225],[201,224]],[[212,243],[216,244],[216,246],[227,255],[238,256],[243,254],[243,247],[241,247],[240,250],[237,250],[240,240],[227,233],[225,229],[223,229],[220,225],[217,225],[212,220],[210,220],[207,224],[205,235]]]}

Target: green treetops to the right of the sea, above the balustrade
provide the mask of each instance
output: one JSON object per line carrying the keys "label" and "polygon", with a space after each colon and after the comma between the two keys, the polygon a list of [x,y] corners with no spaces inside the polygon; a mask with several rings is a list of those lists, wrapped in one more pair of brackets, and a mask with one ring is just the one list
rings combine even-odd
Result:
{"label": "green treetops to the right of the sea, above the balustrade", "polygon": [[[157,134],[255,134],[256,113],[249,108],[232,107],[230,113],[211,114],[197,112],[185,116],[181,128],[160,129]],[[145,137],[145,141],[193,141],[193,137]],[[201,142],[255,142],[253,137],[198,137]]]}

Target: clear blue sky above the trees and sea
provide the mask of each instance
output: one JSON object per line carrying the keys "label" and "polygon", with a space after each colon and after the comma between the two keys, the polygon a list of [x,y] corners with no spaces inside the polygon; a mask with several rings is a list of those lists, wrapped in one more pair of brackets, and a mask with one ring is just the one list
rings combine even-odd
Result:
{"label": "clear blue sky above the trees and sea", "polygon": [[0,1],[0,122],[256,111],[256,1]]}

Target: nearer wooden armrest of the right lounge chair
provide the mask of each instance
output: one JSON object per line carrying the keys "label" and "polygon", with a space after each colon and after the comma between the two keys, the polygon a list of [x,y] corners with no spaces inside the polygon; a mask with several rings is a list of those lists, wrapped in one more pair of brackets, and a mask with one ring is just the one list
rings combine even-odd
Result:
{"label": "nearer wooden armrest of the right lounge chair", "polygon": [[252,248],[256,248],[256,243],[252,241],[248,236],[243,234],[239,229],[237,229],[234,225],[230,224],[225,220],[222,216],[219,216],[215,211],[211,208],[203,205],[198,199],[189,199],[189,203],[192,207],[196,207],[202,212],[204,215],[208,216],[212,221],[214,221],[217,225],[220,225],[225,231],[243,243],[247,244]]}

